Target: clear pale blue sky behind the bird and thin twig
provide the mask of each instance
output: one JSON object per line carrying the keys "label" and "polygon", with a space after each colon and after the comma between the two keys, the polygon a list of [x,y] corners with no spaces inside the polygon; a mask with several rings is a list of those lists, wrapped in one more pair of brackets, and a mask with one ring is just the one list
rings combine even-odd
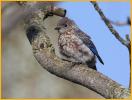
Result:
{"label": "clear pale blue sky behind the bird and thin twig", "polygon": [[[104,61],[104,65],[97,61],[98,71],[128,87],[128,50],[111,34],[92,4],[89,2],[62,2],[59,6],[65,8],[67,16],[91,36]],[[126,21],[127,17],[130,16],[129,2],[101,2],[99,6],[106,17],[113,21]],[[114,27],[123,38],[130,33],[129,26]]]}

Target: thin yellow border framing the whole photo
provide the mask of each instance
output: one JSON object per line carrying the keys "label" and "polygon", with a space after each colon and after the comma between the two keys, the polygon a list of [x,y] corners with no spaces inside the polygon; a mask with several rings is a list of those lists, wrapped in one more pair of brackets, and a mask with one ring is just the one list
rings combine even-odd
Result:
{"label": "thin yellow border framing the whole photo", "polygon": [[[66,2],[77,2],[77,1],[80,1],[80,2],[88,2],[90,0],[1,0],[0,1],[0,26],[2,26],[2,2],[14,2],[14,1],[66,1]],[[130,18],[132,20],[132,0],[91,0],[91,1],[98,1],[98,2],[130,2]],[[2,34],[2,28],[0,27],[0,32]],[[0,34],[0,72],[2,73],[2,35]],[[130,30],[130,40],[132,40],[132,25],[131,25],[131,30]],[[132,47],[131,47],[132,49]],[[132,53],[131,53],[131,57],[132,57]],[[131,62],[132,64],[132,62]],[[132,68],[131,68],[131,72],[132,72]],[[131,80],[132,80],[132,73],[131,73]],[[132,87],[132,86],[131,86]],[[132,88],[130,89],[131,90],[131,95],[129,98],[127,99],[123,99],[123,100],[132,100]],[[11,99],[4,99],[2,98],[2,74],[0,74],[0,100],[33,100],[35,98],[11,98]],[[56,99],[56,98],[39,98],[39,99],[35,99],[35,100],[67,100],[67,99]],[[68,100],[99,100],[99,99],[68,99]],[[102,99],[100,99],[102,100]],[[109,99],[108,99],[109,100]],[[117,100],[117,99],[113,99],[113,100]],[[121,99],[118,99],[118,100],[121,100]]]}

